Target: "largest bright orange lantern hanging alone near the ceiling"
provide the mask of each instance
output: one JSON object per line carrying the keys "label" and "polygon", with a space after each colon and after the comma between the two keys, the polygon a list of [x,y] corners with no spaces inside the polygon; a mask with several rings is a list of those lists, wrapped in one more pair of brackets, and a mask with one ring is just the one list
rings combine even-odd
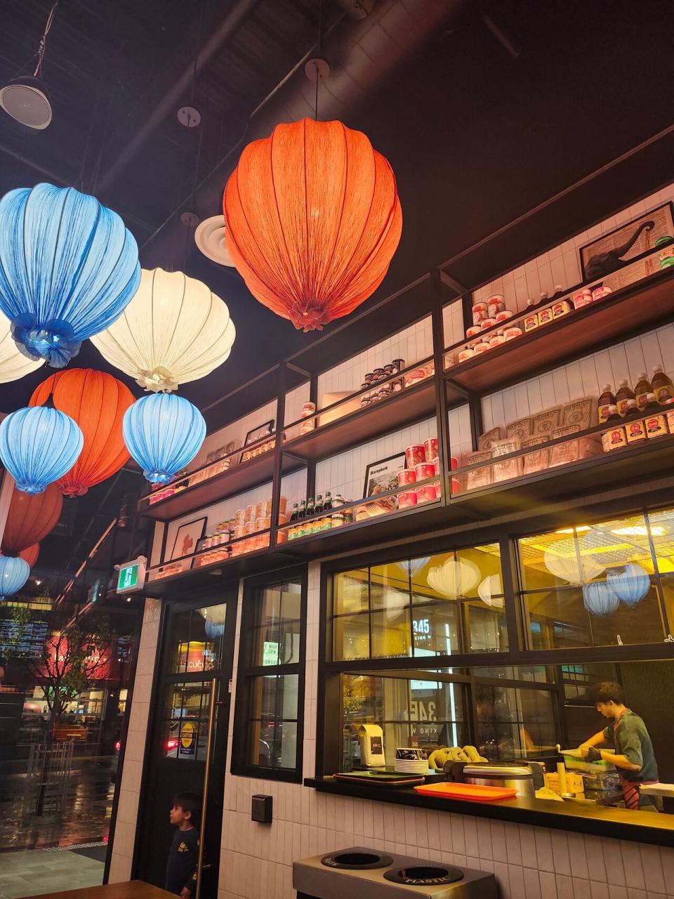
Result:
{"label": "largest bright orange lantern hanging alone near the ceiling", "polygon": [[277,125],[245,147],[223,209],[227,250],[253,297],[304,331],[377,289],[403,229],[391,166],[340,121]]}

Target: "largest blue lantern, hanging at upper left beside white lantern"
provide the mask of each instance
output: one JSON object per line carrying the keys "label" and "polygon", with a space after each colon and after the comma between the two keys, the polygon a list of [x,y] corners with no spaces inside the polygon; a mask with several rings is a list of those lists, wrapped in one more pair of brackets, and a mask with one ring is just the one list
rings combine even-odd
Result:
{"label": "largest blue lantern, hanging at upper left beside white lantern", "polygon": [[136,240],[95,197],[37,184],[0,200],[0,309],[29,359],[62,369],[139,283]]}

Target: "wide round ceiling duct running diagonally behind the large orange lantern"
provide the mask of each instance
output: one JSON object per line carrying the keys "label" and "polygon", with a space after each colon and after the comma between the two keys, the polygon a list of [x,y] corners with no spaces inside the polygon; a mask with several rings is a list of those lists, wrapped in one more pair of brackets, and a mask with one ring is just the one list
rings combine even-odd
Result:
{"label": "wide round ceiling duct running diagonally behind the large orange lantern", "polygon": [[[320,86],[319,118],[348,118],[350,111],[366,102],[377,84],[405,58],[448,22],[456,21],[468,3],[469,0],[434,0],[432,4],[427,0],[379,0],[367,18],[342,19],[340,27],[325,35],[321,44],[321,55],[330,65],[330,76]],[[167,262],[173,246],[173,229],[180,227],[176,213],[188,200],[191,210],[201,219],[222,215],[222,191],[235,168],[236,151],[244,141],[268,137],[280,121],[314,117],[315,85],[307,80],[304,71],[304,62],[312,56],[315,56],[314,47],[251,113],[244,136],[147,238],[142,247],[148,248],[144,265]],[[159,236],[163,238],[161,241],[157,240]]]}

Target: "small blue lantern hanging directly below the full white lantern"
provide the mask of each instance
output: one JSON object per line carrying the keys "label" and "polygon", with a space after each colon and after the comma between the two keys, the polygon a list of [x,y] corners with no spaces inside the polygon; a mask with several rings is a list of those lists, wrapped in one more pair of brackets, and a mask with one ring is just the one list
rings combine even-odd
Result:
{"label": "small blue lantern hanging directly below the full white lantern", "polygon": [[199,409],[175,394],[143,396],[124,413],[124,442],[153,484],[168,484],[197,455],[206,437]]}

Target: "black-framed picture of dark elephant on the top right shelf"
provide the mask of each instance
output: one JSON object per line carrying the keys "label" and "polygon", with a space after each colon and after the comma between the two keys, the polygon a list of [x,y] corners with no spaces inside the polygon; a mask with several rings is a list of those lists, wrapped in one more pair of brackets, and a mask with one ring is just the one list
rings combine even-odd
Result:
{"label": "black-framed picture of dark elephant on the top right shelf", "polygon": [[657,253],[638,263],[631,260],[655,249],[655,242],[668,236],[674,237],[671,202],[581,246],[583,282],[604,279],[607,287],[616,290],[653,274],[659,270]]}

